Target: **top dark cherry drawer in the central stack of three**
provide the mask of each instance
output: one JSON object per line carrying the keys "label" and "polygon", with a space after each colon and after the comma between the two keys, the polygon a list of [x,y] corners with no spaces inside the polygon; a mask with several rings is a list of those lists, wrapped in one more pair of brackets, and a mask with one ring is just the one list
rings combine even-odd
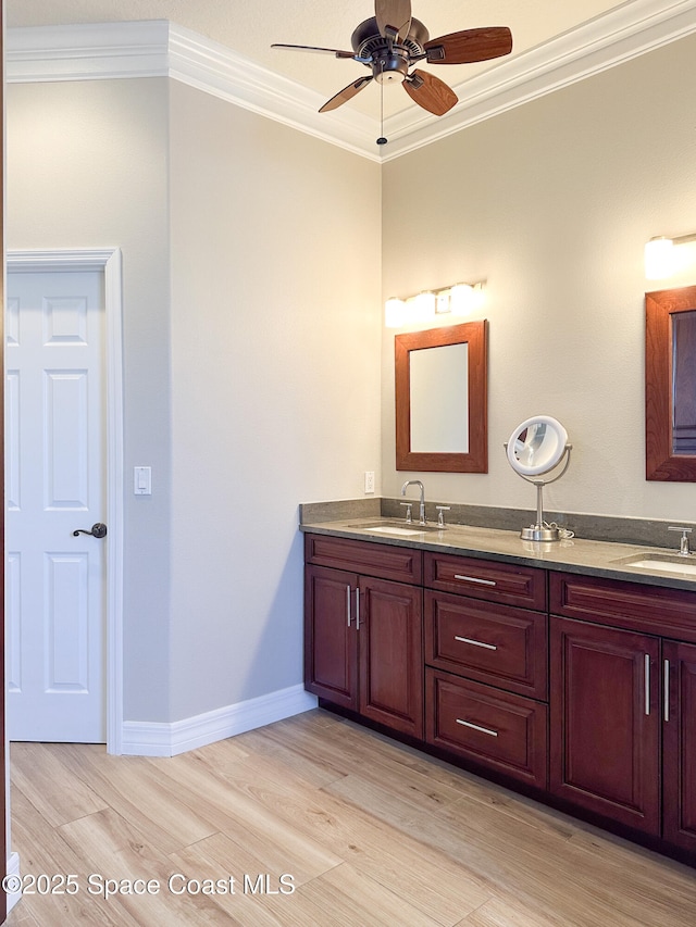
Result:
{"label": "top dark cherry drawer in the central stack of three", "polygon": [[433,589],[537,612],[546,609],[546,573],[533,566],[426,552],[424,574],[424,585]]}

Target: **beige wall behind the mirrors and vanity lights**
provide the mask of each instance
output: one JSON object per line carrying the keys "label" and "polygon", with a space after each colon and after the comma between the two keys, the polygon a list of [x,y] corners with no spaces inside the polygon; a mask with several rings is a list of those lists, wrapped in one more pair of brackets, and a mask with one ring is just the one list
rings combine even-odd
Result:
{"label": "beige wall behind the mirrors and vanity lights", "polygon": [[[424,474],[430,499],[533,508],[502,442],[544,413],[575,448],[548,508],[696,518],[693,486],[644,478],[643,363],[644,242],[696,227],[695,79],[688,38],[384,166],[383,296],[487,279],[489,472]],[[410,476],[393,354],[385,330],[385,494]]]}

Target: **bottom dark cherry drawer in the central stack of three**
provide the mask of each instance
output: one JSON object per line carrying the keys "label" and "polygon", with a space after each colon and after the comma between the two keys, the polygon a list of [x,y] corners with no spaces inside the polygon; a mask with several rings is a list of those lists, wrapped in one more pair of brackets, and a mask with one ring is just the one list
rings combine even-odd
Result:
{"label": "bottom dark cherry drawer in the central stack of three", "polygon": [[436,669],[425,680],[428,743],[546,788],[546,705]]}

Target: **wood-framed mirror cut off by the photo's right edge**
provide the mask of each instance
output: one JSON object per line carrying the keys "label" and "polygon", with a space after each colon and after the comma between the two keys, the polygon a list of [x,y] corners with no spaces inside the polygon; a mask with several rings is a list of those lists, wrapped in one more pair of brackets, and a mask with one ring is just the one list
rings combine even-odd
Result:
{"label": "wood-framed mirror cut off by the photo's right edge", "polygon": [[696,286],[645,295],[646,479],[696,483]]}

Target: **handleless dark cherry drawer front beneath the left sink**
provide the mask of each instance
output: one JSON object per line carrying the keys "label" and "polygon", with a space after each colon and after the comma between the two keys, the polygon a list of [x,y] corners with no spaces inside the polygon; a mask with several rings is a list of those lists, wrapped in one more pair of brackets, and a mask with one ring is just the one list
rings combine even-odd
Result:
{"label": "handleless dark cherry drawer front beneath the left sink", "polygon": [[415,586],[423,580],[423,553],[407,547],[306,534],[304,561]]}

